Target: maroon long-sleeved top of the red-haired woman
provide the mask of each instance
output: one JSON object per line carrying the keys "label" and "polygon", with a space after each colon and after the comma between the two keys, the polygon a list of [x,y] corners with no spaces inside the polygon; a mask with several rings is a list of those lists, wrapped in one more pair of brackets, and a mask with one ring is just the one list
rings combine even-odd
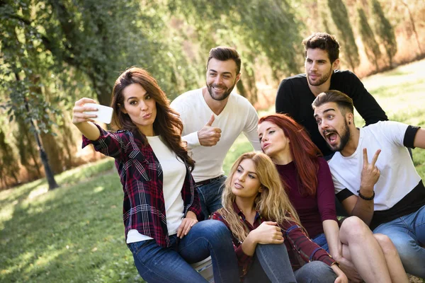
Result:
{"label": "maroon long-sleeved top of the red-haired woman", "polygon": [[319,162],[319,171],[317,172],[317,190],[316,195],[303,196],[298,186],[297,168],[295,163],[286,165],[277,165],[280,178],[285,180],[286,193],[292,202],[302,226],[307,230],[310,238],[323,233],[322,222],[324,220],[335,220],[335,192],[334,182],[332,181],[331,171],[324,158],[317,158]]}

